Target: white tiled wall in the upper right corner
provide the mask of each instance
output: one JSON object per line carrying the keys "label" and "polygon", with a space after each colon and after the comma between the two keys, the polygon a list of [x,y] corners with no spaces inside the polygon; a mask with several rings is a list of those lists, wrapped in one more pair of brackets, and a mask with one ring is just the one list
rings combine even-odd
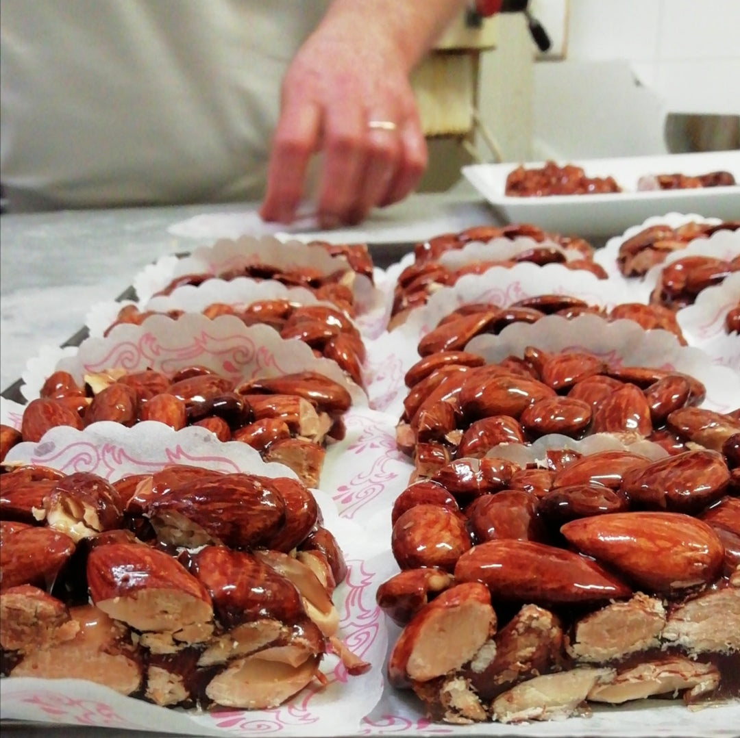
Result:
{"label": "white tiled wall in the upper right corner", "polygon": [[570,0],[567,58],[624,59],[670,112],[740,115],[740,0]]}

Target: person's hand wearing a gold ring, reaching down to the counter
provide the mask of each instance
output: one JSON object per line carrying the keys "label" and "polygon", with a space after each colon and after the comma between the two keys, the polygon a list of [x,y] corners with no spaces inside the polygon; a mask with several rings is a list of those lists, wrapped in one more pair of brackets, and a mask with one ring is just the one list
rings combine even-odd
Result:
{"label": "person's hand wearing a gold ring, reaching down to the counter", "polygon": [[427,150],[403,50],[382,20],[325,18],[292,61],[281,89],[264,220],[289,223],[321,152],[317,217],[323,228],[358,223],[416,186]]}

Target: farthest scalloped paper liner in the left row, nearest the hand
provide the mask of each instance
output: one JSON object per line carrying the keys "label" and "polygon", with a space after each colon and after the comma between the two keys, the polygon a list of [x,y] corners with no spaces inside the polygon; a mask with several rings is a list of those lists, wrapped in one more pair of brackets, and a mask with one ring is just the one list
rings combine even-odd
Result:
{"label": "farthest scalloped paper liner in the left row, nearest the hand", "polygon": [[280,241],[272,236],[243,236],[236,240],[221,239],[212,246],[200,246],[189,257],[166,256],[141,271],[133,282],[136,295],[143,304],[161,291],[175,277],[184,274],[221,274],[229,269],[249,264],[269,264],[283,268],[308,267],[320,274],[346,271],[349,274],[357,314],[366,314],[374,324],[375,314],[382,313],[383,296],[370,280],[354,274],[343,256],[330,256],[322,248],[307,246],[297,240]]}

